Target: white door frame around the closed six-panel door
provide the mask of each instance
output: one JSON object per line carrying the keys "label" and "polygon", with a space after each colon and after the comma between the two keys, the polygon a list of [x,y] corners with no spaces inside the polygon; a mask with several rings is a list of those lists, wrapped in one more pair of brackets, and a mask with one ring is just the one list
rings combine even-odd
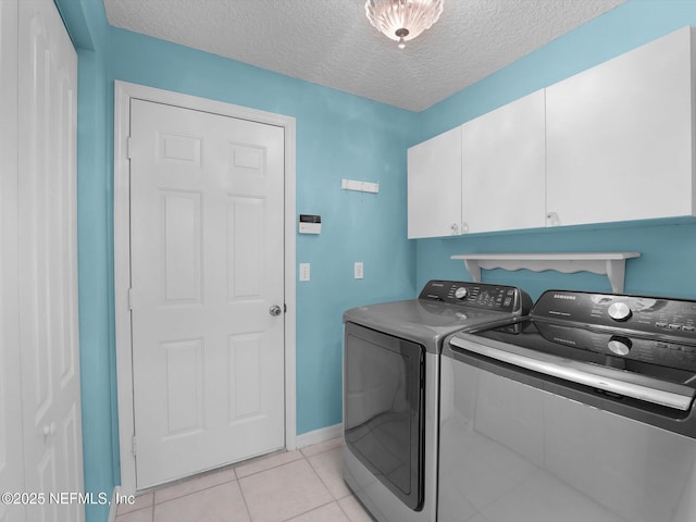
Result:
{"label": "white door frame around the closed six-panel door", "polygon": [[297,447],[295,374],[295,119],[282,114],[234,105],[126,82],[114,82],[114,311],[116,335],[116,387],[119,399],[119,448],[121,452],[121,492],[136,493],[136,467],[133,451],[134,396],[133,343],[130,328],[130,162],[128,137],[130,100],[138,99],[248,120],[285,128],[285,448]]}

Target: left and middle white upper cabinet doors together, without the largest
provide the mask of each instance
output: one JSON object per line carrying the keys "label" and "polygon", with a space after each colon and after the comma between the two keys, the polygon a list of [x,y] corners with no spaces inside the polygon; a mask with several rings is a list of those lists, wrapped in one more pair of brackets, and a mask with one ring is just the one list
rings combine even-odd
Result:
{"label": "left and middle white upper cabinet doors together, without the largest", "polygon": [[411,147],[409,238],[545,226],[544,91]]}

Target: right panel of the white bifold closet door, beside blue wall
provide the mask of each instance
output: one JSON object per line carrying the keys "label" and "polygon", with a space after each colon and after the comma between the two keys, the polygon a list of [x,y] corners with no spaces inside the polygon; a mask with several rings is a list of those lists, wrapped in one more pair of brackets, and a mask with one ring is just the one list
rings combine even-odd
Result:
{"label": "right panel of the white bifold closet door, beside blue wall", "polygon": [[[51,0],[20,1],[18,311],[25,490],[82,492],[77,55]],[[82,521],[77,502],[29,520]]]}

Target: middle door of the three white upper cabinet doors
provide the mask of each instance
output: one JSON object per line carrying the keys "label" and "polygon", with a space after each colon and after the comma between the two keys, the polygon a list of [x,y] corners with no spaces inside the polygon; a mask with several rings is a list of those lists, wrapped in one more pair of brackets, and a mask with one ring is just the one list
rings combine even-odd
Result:
{"label": "middle door of the three white upper cabinet doors", "polygon": [[544,119],[539,90],[463,125],[464,232],[545,226]]}

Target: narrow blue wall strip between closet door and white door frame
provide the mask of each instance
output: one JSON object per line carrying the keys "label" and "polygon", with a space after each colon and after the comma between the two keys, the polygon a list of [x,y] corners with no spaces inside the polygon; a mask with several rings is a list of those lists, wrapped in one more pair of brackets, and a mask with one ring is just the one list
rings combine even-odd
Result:
{"label": "narrow blue wall strip between closet door and white door frame", "polygon": [[[107,33],[103,4],[58,2],[77,49],[77,239],[83,458],[85,488],[111,492],[119,480],[119,426],[110,233]],[[85,506],[88,522],[105,521],[107,506]]]}

